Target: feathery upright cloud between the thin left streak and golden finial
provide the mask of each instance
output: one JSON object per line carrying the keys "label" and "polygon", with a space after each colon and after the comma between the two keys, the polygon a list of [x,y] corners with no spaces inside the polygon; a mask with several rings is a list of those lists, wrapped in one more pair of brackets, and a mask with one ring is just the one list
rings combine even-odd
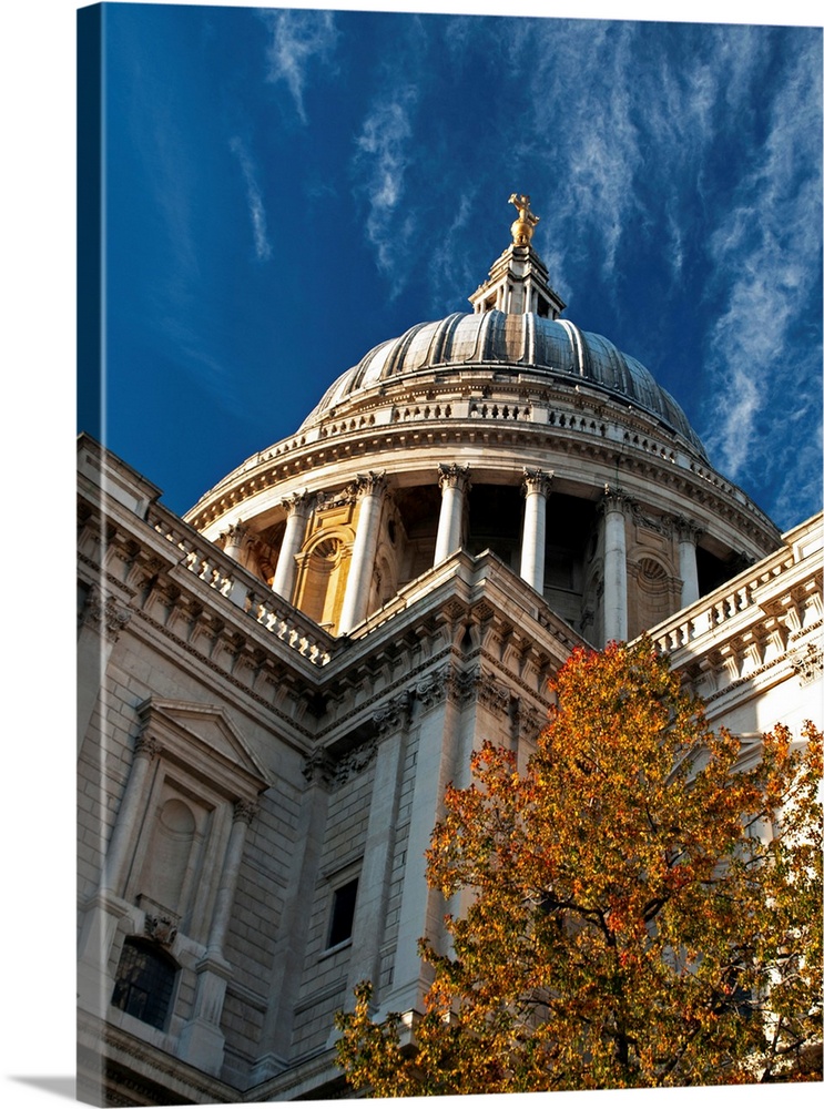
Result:
{"label": "feathery upright cloud between the thin left streak and golden finial", "polygon": [[[414,157],[410,113],[416,102],[411,87],[387,90],[388,99],[377,103],[364,120],[355,140],[356,191],[368,206],[366,236],[375,250],[379,269],[391,278],[397,295],[404,284],[398,254],[415,235],[410,212],[400,213],[405,175]],[[400,215],[399,215],[400,213]]]}

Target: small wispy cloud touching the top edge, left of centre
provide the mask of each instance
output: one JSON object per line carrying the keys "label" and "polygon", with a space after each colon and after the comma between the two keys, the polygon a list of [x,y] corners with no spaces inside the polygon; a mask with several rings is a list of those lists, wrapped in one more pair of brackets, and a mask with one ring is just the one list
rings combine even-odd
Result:
{"label": "small wispy cloud touching the top edge, left of centre", "polygon": [[268,11],[264,18],[272,40],[266,51],[268,81],[286,84],[302,123],[308,122],[305,92],[309,69],[328,64],[338,40],[332,11]]}

